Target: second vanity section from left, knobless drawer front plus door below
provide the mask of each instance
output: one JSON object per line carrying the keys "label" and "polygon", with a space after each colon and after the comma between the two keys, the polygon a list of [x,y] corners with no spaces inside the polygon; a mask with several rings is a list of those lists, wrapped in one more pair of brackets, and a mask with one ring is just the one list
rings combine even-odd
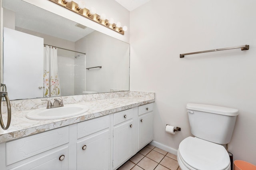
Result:
{"label": "second vanity section from left, knobless drawer front plus door below", "polygon": [[77,170],[110,169],[110,115],[78,123]]}

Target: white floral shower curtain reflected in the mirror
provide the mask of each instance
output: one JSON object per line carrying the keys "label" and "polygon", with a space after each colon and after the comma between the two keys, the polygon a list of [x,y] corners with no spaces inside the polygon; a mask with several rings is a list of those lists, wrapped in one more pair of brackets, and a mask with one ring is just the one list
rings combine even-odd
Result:
{"label": "white floral shower curtain reflected in the mirror", "polygon": [[57,48],[44,47],[44,97],[60,96]]}

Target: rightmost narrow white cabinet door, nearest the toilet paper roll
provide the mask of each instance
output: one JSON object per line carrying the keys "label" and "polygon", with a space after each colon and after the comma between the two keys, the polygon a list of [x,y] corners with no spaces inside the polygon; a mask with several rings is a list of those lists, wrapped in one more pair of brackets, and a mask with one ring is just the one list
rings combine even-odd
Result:
{"label": "rightmost narrow white cabinet door, nearest the toilet paper roll", "polygon": [[139,150],[153,140],[153,112],[139,117]]}

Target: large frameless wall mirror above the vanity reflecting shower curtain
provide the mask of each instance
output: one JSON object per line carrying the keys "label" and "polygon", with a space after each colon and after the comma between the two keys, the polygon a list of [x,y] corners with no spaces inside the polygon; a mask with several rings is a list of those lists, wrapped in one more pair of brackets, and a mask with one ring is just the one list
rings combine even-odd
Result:
{"label": "large frameless wall mirror above the vanity reflecting shower curtain", "polygon": [[130,45],[22,0],[2,0],[11,100],[129,90]]}

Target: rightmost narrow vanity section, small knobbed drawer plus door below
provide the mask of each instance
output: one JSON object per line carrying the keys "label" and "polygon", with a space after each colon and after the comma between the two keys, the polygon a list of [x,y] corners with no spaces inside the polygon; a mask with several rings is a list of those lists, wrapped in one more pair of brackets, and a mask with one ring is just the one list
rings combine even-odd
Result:
{"label": "rightmost narrow vanity section, small knobbed drawer plus door below", "polygon": [[142,149],[146,144],[153,140],[153,103],[139,106],[138,109],[138,123],[139,123],[139,146]]}

